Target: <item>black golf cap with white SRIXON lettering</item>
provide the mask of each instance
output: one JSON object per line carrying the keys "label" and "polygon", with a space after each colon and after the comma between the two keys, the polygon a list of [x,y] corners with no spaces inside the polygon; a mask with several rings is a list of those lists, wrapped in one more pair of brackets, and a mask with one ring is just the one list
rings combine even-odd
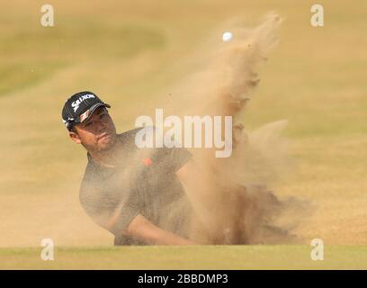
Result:
{"label": "black golf cap with white SRIXON lettering", "polygon": [[111,108],[108,103],[104,103],[96,94],[90,91],[83,91],[70,96],[62,109],[62,121],[67,130],[71,130],[77,123],[87,120],[100,106]]}

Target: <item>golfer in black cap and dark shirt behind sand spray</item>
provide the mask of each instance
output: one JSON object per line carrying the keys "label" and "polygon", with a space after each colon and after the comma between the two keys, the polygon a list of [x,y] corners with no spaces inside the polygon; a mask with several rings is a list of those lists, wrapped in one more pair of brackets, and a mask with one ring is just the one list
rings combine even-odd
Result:
{"label": "golfer in black cap and dark shirt behind sand spray", "polygon": [[190,245],[191,205],[178,175],[192,160],[184,148],[138,148],[135,134],[116,133],[111,106],[92,92],[69,97],[62,119],[87,151],[80,187],[85,212],[114,236],[115,245]]}

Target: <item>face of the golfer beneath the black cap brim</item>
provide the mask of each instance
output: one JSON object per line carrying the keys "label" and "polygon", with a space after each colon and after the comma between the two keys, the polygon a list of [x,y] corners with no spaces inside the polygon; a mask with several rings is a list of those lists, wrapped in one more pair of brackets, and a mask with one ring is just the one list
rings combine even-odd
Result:
{"label": "face of the golfer beneath the black cap brim", "polygon": [[111,148],[116,137],[116,128],[107,109],[103,106],[95,109],[88,120],[75,125],[76,132],[70,131],[70,137],[86,150],[101,152]]}

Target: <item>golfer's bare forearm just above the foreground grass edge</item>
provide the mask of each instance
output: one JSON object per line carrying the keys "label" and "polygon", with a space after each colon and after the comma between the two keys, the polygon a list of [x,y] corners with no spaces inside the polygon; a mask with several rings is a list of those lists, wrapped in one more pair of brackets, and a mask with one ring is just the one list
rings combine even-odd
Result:
{"label": "golfer's bare forearm just above the foreground grass edge", "polygon": [[130,222],[125,234],[153,245],[195,245],[191,240],[160,229],[142,215]]}

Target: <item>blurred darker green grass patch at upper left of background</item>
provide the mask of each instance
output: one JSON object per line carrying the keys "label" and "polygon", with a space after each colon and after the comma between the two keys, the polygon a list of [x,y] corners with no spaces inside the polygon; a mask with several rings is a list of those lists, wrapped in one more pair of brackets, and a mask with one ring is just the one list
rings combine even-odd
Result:
{"label": "blurred darker green grass patch at upper left of background", "polygon": [[130,58],[145,49],[162,49],[165,35],[148,25],[109,25],[87,18],[61,18],[58,25],[5,23],[12,33],[0,33],[0,96],[46,81],[59,69],[93,59]]}

